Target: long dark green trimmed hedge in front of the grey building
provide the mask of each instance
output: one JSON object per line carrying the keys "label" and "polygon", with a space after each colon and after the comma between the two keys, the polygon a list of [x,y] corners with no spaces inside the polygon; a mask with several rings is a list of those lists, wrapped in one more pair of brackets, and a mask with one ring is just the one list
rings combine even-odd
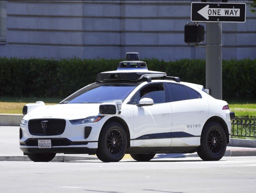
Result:
{"label": "long dark green trimmed hedge in front of the grey building", "polygon": [[[65,98],[95,82],[99,72],[112,71],[122,59],[19,59],[0,58],[0,95]],[[148,69],[205,86],[205,60],[159,61],[144,59]],[[223,99],[255,98],[256,60],[222,62]]]}

